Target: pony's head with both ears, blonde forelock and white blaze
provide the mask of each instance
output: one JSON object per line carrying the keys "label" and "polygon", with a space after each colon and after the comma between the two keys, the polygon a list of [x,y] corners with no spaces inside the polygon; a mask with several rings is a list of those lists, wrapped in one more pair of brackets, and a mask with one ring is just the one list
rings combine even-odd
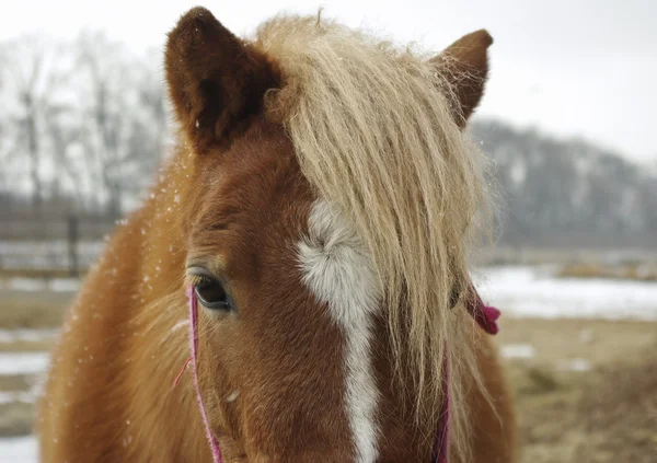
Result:
{"label": "pony's head with both ears, blonde forelock and white blaze", "polygon": [[485,192],[462,129],[491,43],[423,56],[318,18],[246,40],[201,8],[169,34],[199,391],[228,460],[426,461],[445,366],[466,451]]}

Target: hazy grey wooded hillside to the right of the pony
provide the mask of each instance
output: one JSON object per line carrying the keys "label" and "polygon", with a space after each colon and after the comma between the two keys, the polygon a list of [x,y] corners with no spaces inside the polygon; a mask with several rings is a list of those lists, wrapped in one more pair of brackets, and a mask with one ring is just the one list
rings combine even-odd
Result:
{"label": "hazy grey wooded hillside to the right of the pony", "polygon": [[477,120],[471,131],[499,185],[503,242],[657,245],[657,166],[499,120]]}

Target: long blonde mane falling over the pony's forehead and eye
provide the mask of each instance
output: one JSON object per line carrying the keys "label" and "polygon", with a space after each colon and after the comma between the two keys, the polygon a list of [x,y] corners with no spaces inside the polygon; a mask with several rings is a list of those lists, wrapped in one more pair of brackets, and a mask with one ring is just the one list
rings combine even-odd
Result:
{"label": "long blonde mane falling over the pony's forehead and eye", "polygon": [[486,192],[481,157],[453,118],[445,65],[319,18],[265,23],[256,46],[283,76],[267,108],[311,185],[371,252],[396,366],[413,371],[418,417],[436,425],[449,366],[452,448],[466,456],[464,394],[482,382],[466,291],[456,308],[450,296],[470,280],[466,252]]}

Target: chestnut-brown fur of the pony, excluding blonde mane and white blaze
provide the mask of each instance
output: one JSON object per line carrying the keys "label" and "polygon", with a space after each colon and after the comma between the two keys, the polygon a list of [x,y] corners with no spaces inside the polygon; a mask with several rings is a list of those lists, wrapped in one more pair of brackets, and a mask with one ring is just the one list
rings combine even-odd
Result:
{"label": "chestnut-brown fur of the pony, excluding blonde mane and white blaze", "polygon": [[[485,77],[487,44],[477,43],[468,57]],[[200,390],[226,461],[354,461],[344,335],[302,285],[293,246],[316,192],[284,126],[262,109],[265,92],[284,84],[278,65],[203,9],[172,31],[165,65],[182,144],[69,312],[39,406],[42,459],[210,461],[191,377],[172,387],[188,356],[187,327],[174,327],[186,319],[193,261],[221,275],[238,305],[238,314],[199,309]],[[454,92],[465,117],[482,90]],[[428,461],[436,424],[415,419],[414,401],[392,380],[385,315],[376,326],[378,461]],[[472,342],[496,406],[463,384],[473,461],[512,462],[503,372],[485,336]]]}

